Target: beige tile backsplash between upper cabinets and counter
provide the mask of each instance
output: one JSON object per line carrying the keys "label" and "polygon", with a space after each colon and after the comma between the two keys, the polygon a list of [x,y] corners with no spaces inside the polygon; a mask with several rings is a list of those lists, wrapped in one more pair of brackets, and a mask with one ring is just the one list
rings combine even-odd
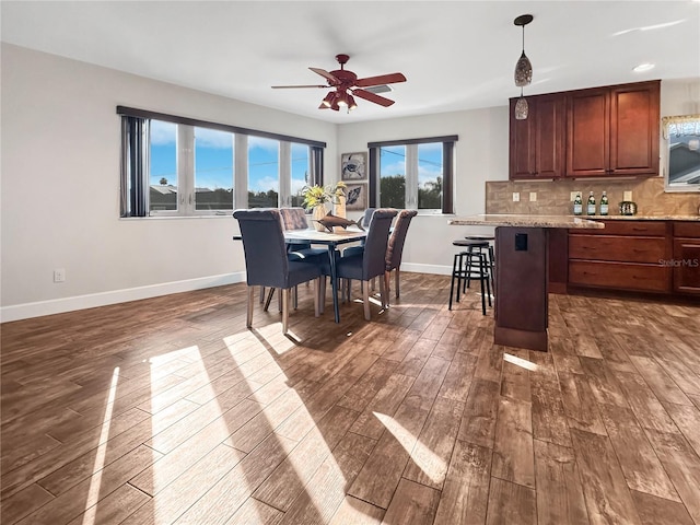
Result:
{"label": "beige tile backsplash between upper cabinets and counter", "polygon": [[[487,213],[525,213],[525,214],[565,214],[573,213],[572,191],[581,191],[584,202],[588,192],[593,191],[599,205],[600,195],[606,191],[610,202],[611,215],[619,214],[618,202],[626,200],[625,192],[631,191],[637,202],[638,215],[697,215],[700,206],[700,192],[679,194],[664,192],[663,177],[629,180],[522,180],[522,182],[487,182]],[[520,192],[520,201],[513,202],[513,194]],[[536,194],[536,201],[529,200],[530,192]]]}

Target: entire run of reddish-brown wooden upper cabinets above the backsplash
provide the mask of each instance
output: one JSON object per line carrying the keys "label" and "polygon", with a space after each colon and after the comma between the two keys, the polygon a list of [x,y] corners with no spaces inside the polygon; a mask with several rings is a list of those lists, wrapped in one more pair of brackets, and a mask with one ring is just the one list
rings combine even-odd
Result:
{"label": "entire run of reddish-brown wooden upper cabinets above the backsplash", "polygon": [[658,175],[660,81],[528,97],[515,120],[510,178]]}

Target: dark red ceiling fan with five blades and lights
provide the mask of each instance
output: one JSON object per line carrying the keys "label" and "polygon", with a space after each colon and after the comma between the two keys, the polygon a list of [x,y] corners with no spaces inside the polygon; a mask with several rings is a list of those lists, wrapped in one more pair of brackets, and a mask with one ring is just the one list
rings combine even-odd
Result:
{"label": "dark red ceiling fan with five blades and lights", "polygon": [[340,69],[335,71],[326,71],[320,68],[308,68],[314,73],[320,74],[326,79],[327,84],[323,85],[273,85],[273,90],[285,90],[296,88],[334,88],[335,91],[330,91],[326,97],[320,102],[318,109],[332,109],[339,110],[341,106],[348,108],[348,112],[358,107],[352,95],[364,98],[365,101],[373,102],[384,107],[388,107],[394,104],[384,96],[380,96],[371,91],[363,90],[363,88],[371,88],[381,84],[394,84],[397,82],[406,82],[406,77],[402,73],[388,73],[380,74],[377,77],[366,77],[364,79],[358,79],[358,75],[352,71],[345,69],[345,65],[350,57],[348,55],[336,55],[336,60],[340,65]]}

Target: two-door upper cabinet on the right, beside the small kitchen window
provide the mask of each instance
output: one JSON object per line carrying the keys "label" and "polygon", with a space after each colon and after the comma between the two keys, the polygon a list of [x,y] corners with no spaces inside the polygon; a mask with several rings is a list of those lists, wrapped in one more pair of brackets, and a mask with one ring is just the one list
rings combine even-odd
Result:
{"label": "two-door upper cabinet on the right, beside the small kitchen window", "polygon": [[567,177],[658,175],[660,81],[567,94]]}

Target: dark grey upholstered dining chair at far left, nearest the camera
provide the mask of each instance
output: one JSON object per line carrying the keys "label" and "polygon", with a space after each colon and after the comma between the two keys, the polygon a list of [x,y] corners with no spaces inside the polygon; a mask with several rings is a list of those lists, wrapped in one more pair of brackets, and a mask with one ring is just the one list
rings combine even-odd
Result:
{"label": "dark grey upholstered dining chair at far left, nearest the camera", "polygon": [[[253,326],[255,287],[277,288],[282,296],[282,332],[289,331],[290,290],[302,282],[320,277],[320,266],[315,260],[290,260],[282,232],[282,221],[277,209],[258,208],[236,210],[243,252],[245,255],[247,293],[246,327]],[[318,316],[318,287],[314,284],[314,310]]]}

